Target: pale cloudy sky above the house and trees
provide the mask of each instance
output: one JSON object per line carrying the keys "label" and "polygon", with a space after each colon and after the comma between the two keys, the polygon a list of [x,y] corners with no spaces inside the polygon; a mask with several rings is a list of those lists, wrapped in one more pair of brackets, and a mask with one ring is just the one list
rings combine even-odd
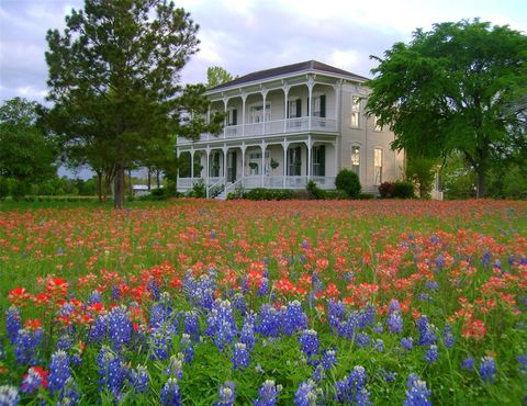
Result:
{"label": "pale cloudy sky above the house and trees", "polygon": [[[0,102],[43,101],[48,29],[82,0],[0,0]],[[527,33],[527,0],[183,0],[200,24],[200,52],[183,82],[205,80],[209,66],[234,75],[316,59],[362,76],[394,42],[416,27],[479,16]]]}

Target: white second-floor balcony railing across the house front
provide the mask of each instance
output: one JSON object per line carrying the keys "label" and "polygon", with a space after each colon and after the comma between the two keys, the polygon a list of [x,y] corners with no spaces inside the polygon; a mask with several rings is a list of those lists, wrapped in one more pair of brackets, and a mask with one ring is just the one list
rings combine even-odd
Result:
{"label": "white second-floor balcony railing across the house front", "polygon": [[[298,133],[306,131],[337,132],[337,120],[326,117],[295,117],[285,120],[273,120],[266,123],[248,123],[239,125],[229,125],[224,131],[214,136],[212,134],[202,134],[198,142],[208,142],[214,139],[232,139],[240,137],[255,137],[262,135],[274,135],[283,133]],[[187,138],[178,138],[178,145],[192,144]]]}

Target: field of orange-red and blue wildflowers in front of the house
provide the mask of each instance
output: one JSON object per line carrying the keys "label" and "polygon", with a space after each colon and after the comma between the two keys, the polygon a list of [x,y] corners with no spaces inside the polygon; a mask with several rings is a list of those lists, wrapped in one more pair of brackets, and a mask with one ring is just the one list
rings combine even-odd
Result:
{"label": "field of orange-red and blue wildflowers in front of the house", "polygon": [[527,202],[0,212],[0,405],[522,405]]}

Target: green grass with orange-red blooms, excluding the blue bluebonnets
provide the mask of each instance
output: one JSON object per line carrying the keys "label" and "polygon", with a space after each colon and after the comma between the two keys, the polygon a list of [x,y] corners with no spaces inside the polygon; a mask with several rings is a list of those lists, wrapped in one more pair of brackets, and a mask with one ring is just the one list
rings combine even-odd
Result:
{"label": "green grass with orange-red blooms, excluding the blue bluebonnets", "polygon": [[[247,306],[256,312],[266,303],[279,308],[299,300],[309,317],[306,327],[317,331],[321,348],[337,352],[338,363],[316,385],[318,398],[326,404],[335,402],[335,383],[356,365],[365,366],[366,388],[375,405],[402,404],[411,373],[426,382],[435,404],[520,405],[526,395],[526,375],[517,361],[527,353],[523,302],[527,269],[522,263],[527,256],[526,202],[178,200],[134,202],[122,212],[96,202],[1,204],[1,313],[10,307],[8,295],[14,287],[23,286],[34,296],[45,292],[49,281],[45,277],[54,274],[69,282],[68,292],[79,301],[86,302],[93,290],[99,291],[106,311],[112,302],[130,309],[137,300],[133,295],[112,300],[113,286],[124,283],[130,289],[143,287],[146,296],[141,296],[139,307],[144,317],[134,323],[148,325],[152,306],[158,304],[148,291],[148,281],[155,279],[159,289],[171,296],[171,316],[165,319],[177,325],[171,352],[182,351],[184,327],[180,318],[192,308],[199,314],[201,341],[194,342],[194,361],[184,363],[183,377],[178,382],[186,404],[217,402],[218,387],[225,380],[235,382],[237,404],[249,404],[266,379],[281,384],[279,402],[291,404],[299,384],[313,376],[313,363],[318,360],[310,361],[302,353],[301,331],[278,338],[259,332],[249,368],[233,371],[232,345],[218,350],[213,337],[205,334],[211,311],[189,295],[189,269],[197,281],[214,269],[211,278],[217,274],[215,295],[234,303],[234,293],[243,292]],[[166,268],[159,267],[161,263],[167,263]],[[90,273],[93,282],[82,283]],[[313,274],[319,282],[312,281]],[[266,275],[269,291],[258,295]],[[173,278],[182,281],[186,290],[170,285]],[[251,285],[250,281],[258,282]],[[427,287],[429,281],[437,282],[438,287]],[[244,283],[248,286],[244,287]],[[330,284],[337,293],[332,293]],[[369,346],[360,348],[357,336],[341,337],[330,328],[327,302],[332,296],[347,303],[347,316],[341,323],[352,312],[374,306],[375,323],[360,330],[368,335]],[[402,334],[390,332],[385,324],[392,300],[402,305]],[[80,402],[114,402],[115,394],[101,395],[98,391],[94,364],[100,343],[90,343],[86,338],[92,322],[78,324],[71,330],[57,322],[58,304],[45,309],[35,303],[26,301],[21,312],[23,320],[44,322],[46,338],[38,347],[40,364],[47,368],[58,337],[69,331],[75,342],[87,343],[82,364],[74,369],[82,392]],[[82,314],[86,309],[76,312]],[[400,346],[402,337],[413,337],[417,342],[416,322],[421,315],[427,315],[437,328],[439,359],[431,364],[424,360],[428,347],[415,345],[414,350],[405,351]],[[246,316],[237,309],[234,316],[239,330]],[[485,334],[471,332],[475,320],[484,324]],[[258,326],[260,322],[255,323]],[[378,323],[383,326],[382,332],[374,328]],[[1,331],[4,324],[0,320]],[[446,324],[452,326],[456,337],[452,348],[441,339]],[[375,349],[378,339],[383,340],[384,351]],[[112,342],[108,337],[104,340]],[[5,370],[0,373],[0,382],[20,385],[29,365],[16,363],[14,346],[7,337],[0,341],[7,348],[7,359],[0,361],[0,371],[2,364]],[[120,387],[124,404],[159,402],[168,360],[153,358],[152,346],[147,339],[139,349],[126,347],[117,351],[126,365],[146,364],[150,375],[146,395],[134,394],[130,384]],[[76,351],[74,347],[70,354]],[[469,356],[476,360],[474,371],[460,369]],[[496,363],[493,382],[482,379],[478,371],[485,356]],[[394,380],[388,382],[385,376],[392,373]],[[51,398],[44,390],[41,396]],[[53,396],[56,399],[60,395]],[[23,402],[31,399],[34,395],[22,396]]]}

